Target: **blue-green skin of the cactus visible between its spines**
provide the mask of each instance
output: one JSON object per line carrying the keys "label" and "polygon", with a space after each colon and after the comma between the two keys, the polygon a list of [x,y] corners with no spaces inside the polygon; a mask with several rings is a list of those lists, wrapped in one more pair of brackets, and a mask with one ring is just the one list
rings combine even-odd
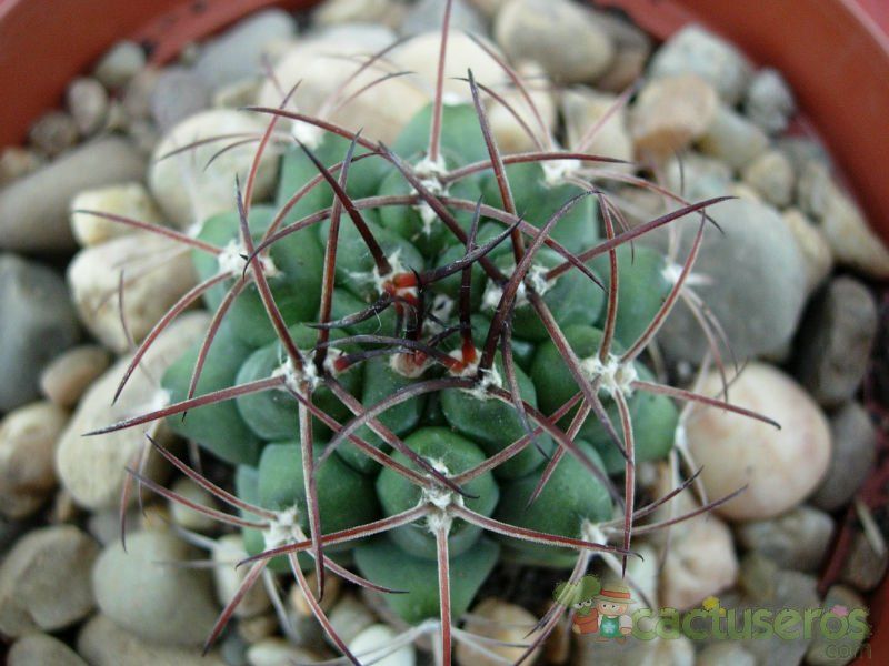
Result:
{"label": "blue-green skin of the cactus visible between its spines", "polygon": [[[393,150],[407,163],[416,165],[423,158],[430,121],[431,108],[427,108],[418,113],[396,141]],[[330,167],[343,159],[348,145],[349,142],[343,139],[327,135],[313,147],[313,151],[322,163]],[[359,149],[357,154],[363,152],[363,149]],[[488,161],[478,120],[471,107],[444,109],[441,154],[450,168]],[[314,165],[300,149],[288,151],[282,159],[277,206],[283,204],[317,173]],[[508,168],[508,175],[519,214],[537,226],[541,226],[569,196],[580,192],[575,185],[546,183],[542,169],[537,164],[511,165]],[[361,199],[387,192],[408,193],[411,190],[391,164],[372,157],[351,165],[347,191],[352,198]],[[483,195],[486,203],[501,208],[499,191],[490,170],[473,174],[459,184],[455,183],[450,193],[469,201]],[[327,183],[322,183],[293,208],[284,218],[286,224],[328,209],[332,202],[332,191]],[[254,239],[262,235],[276,210],[278,209],[262,205],[252,208],[250,229]],[[458,223],[468,230],[471,214],[457,209],[451,212]],[[398,252],[398,260],[404,270],[423,271],[446,265],[466,252],[449,232],[444,233],[440,229],[428,238],[417,236],[419,216],[413,208],[364,209],[362,215],[387,256],[391,258]],[[503,229],[501,221],[482,218],[477,244],[485,244]],[[329,220],[324,220],[291,234],[271,250],[271,259],[281,273],[269,282],[291,335],[303,352],[314,346],[318,335],[316,329],[304,324],[317,321],[319,316],[323,248],[328,241],[328,232]],[[237,240],[239,233],[238,216],[231,212],[208,220],[200,238],[224,246],[229,241]],[[599,239],[595,199],[588,196],[578,202],[556,225],[553,238],[572,252],[593,245]],[[337,254],[333,320],[364,311],[380,295],[371,281],[357,275],[370,274],[374,264],[354,223],[346,213],[340,221]],[[658,271],[661,264],[658,263],[657,255],[649,256],[647,251],[639,254],[637,262],[625,261],[623,251],[620,256],[621,306],[618,315],[618,339],[630,344],[626,339],[662,302],[663,285],[653,280],[660,274]],[[489,259],[509,274],[513,261],[509,241],[491,252]],[[545,248],[540,250],[536,263],[553,266],[562,263],[562,258]],[[203,280],[218,272],[217,259],[207,253],[196,251],[194,265]],[[597,260],[590,265],[607,282],[607,264],[603,266],[601,260]],[[627,265],[633,271],[628,272]],[[639,266],[647,269],[640,270]],[[478,263],[471,271],[472,336],[476,346],[481,349],[493,313],[481,310],[487,275]],[[208,307],[216,309],[232,283],[229,280],[210,290],[204,299]],[[455,301],[449,323],[457,322],[456,302],[460,283],[461,274],[458,272],[430,285],[426,295],[427,303],[430,304],[436,294],[448,295]],[[652,285],[656,289],[649,289]],[[603,291],[572,269],[556,280],[543,294],[543,301],[559,325],[570,333],[569,341],[577,345],[578,353],[585,355],[587,347],[596,342],[597,333],[591,326],[601,322],[603,316]],[[635,303],[636,301],[639,303]],[[379,315],[332,332],[331,339],[354,334],[396,335],[396,310],[389,307]],[[511,350],[521,395],[527,403],[537,405],[545,414],[551,413],[576,393],[575,382],[567,376],[567,369],[558,354],[552,355],[552,343],[529,305],[517,309],[511,333]],[[441,349],[449,351],[458,345],[459,335],[452,335]],[[344,351],[349,353],[361,349],[353,345]],[[197,350],[183,354],[164,376],[164,387],[170,391],[173,401],[184,397],[196,354]],[[500,354],[501,350],[498,350],[496,366],[506,387],[508,384]],[[251,284],[238,296],[223,320],[199,383],[198,395],[268,377],[281,365],[283,357],[283,351],[268,324],[256,287]],[[419,381],[396,373],[389,363],[389,356],[371,357],[339,374],[337,380],[367,407]],[[641,376],[648,376],[641,365],[638,369]],[[442,374],[442,369],[436,365],[426,372],[424,379]],[[319,387],[312,395],[312,402],[340,423],[348,423],[352,418],[351,411],[327,387]],[[613,405],[609,410],[613,413]],[[666,455],[672,442],[676,423],[672,404],[659,396],[650,397],[637,393],[631,400],[631,410],[635,432],[639,431],[637,460]],[[173,417],[169,423],[183,436],[239,465],[236,490],[240,497],[274,511],[297,506],[301,526],[308,533],[301,452],[293,443],[299,432],[298,421],[297,401],[284,391],[273,390],[192,410],[184,421]],[[497,398],[480,400],[469,392],[457,390],[411,398],[381,414],[379,421],[427,460],[443,461],[452,474],[478,465],[526,433],[511,404]],[[530,423],[533,425],[532,420]],[[619,430],[616,417],[615,423]],[[609,473],[620,472],[622,457],[617,450],[612,451],[613,445],[603,437],[603,433],[597,432],[597,423],[588,420],[578,442],[588,441],[589,444],[581,443],[581,446],[597,463],[601,455],[601,464]],[[600,431],[601,426],[598,428]],[[323,442],[330,437],[330,431],[313,418],[313,433],[314,454],[318,456],[323,450]],[[401,453],[392,452],[368,426],[360,427],[356,434],[399,462],[413,465]],[[578,531],[582,518],[599,522],[611,517],[612,505],[607,491],[571,455],[561,461],[541,496],[526,509],[527,498],[546,463],[540,450],[547,455],[555,450],[553,441],[548,434],[537,436],[536,444],[537,446],[527,446],[506,464],[467,484],[465,490],[472,497],[465,498],[466,505],[482,515],[493,515],[507,523],[575,537],[580,536]],[[391,470],[381,468],[348,441],[339,444],[336,454],[317,468],[317,474],[321,523],[326,533],[393,515],[416,506],[420,500],[417,486]],[[264,549],[266,543],[260,532],[244,529],[243,533],[249,553],[257,554]],[[549,566],[572,564],[569,551],[499,537],[491,539],[482,536],[477,527],[457,518],[449,538],[455,616],[468,608],[473,595],[500,557],[501,546],[505,556],[516,561]],[[428,532],[426,521],[328,551],[333,558],[341,562],[347,562],[354,555],[354,562],[362,575],[378,584],[397,589],[409,588],[410,594],[388,597],[390,606],[406,620],[416,623],[438,616],[434,539]],[[299,563],[304,568],[313,566],[307,554],[299,556]],[[286,558],[278,557],[271,562],[271,566],[274,571],[284,571],[289,565]]]}

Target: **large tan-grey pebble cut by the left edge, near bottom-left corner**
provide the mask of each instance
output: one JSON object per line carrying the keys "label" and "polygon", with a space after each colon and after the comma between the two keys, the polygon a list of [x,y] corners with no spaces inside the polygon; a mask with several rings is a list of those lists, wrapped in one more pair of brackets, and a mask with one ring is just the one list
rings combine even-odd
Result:
{"label": "large tan-grey pebble cut by the left edge, near bottom-left corner", "polygon": [[98,554],[96,542],[70,525],[21,537],[0,565],[0,632],[18,638],[86,617],[96,603],[90,569]]}

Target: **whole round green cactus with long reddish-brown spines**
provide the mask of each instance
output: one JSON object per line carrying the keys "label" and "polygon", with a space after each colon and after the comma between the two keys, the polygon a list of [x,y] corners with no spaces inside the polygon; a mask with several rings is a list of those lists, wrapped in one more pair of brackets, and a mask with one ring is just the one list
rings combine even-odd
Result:
{"label": "whole round green cactus with long reddish-brown spines", "polygon": [[[444,12],[442,59],[450,2]],[[720,199],[673,198],[676,210],[628,229],[587,178],[613,160],[548,135],[548,148],[501,155],[471,72],[468,85],[472,104],[444,105],[440,74],[391,149],[288,99],[254,108],[270,121],[231,212],[194,236],[117,218],[190,248],[201,279],[142,342],[118,394],[179,312],[202,299],[214,314],[166,373],[169,405],[92,434],[166,418],[237,465],[231,493],[156,447],[233,509],[211,515],[243,531],[242,591],[267,567],[291,572],[353,663],[318,602],[326,572],[382,594],[408,623],[437,619],[449,663],[453,618],[498,562],[573,568],[572,581],[593,556],[626,568],[633,531],[652,529],[636,522],[693,478],[635,506],[636,465],[669,454],[677,401],[768,421],[665,385],[645,363]],[[277,200],[252,206],[256,164],[281,142]],[[692,214],[681,266],[632,244]]]}

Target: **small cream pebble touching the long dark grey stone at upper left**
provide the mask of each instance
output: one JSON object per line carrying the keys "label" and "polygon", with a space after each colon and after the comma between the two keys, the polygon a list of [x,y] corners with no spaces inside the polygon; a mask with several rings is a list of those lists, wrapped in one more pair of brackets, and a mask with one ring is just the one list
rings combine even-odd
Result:
{"label": "small cream pebble touching the long dark grey stone at upper left", "polygon": [[163,215],[142,183],[120,183],[83,190],[71,200],[71,232],[81,248],[98,245],[136,231],[127,224],[77,212],[81,210],[100,211],[149,224],[163,222]]}

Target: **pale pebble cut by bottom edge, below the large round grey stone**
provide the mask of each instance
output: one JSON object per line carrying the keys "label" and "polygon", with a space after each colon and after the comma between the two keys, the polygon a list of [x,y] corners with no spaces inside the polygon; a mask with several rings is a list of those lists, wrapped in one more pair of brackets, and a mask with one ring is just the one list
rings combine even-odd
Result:
{"label": "pale pebble cut by bottom edge, below the large round grey stone", "polygon": [[142,640],[101,614],[80,630],[77,650],[90,666],[227,666],[214,650],[201,656],[194,647]]}

